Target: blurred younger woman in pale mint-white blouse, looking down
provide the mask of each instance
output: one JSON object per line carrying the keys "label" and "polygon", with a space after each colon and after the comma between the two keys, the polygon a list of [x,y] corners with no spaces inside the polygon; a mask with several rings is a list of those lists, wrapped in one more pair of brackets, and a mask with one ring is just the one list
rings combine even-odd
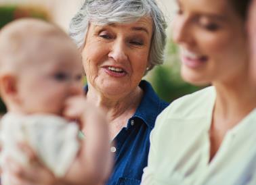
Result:
{"label": "blurred younger woman in pale mint-white blouse, looking down", "polygon": [[159,115],[142,184],[256,184],[249,0],[177,2],[173,38],[181,48],[182,76],[213,86],[178,99]]}

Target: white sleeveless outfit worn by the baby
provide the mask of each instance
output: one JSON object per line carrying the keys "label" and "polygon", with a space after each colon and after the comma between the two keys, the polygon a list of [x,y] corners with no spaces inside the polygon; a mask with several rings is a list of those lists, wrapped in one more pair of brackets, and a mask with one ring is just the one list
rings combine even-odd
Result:
{"label": "white sleeveless outfit worn by the baby", "polygon": [[8,184],[4,182],[5,157],[12,157],[22,165],[30,165],[28,157],[18,148],[19,142],[27,143],[56,176],[64,176],[79,150],[78,132],[77,124],[56,115],[5,114],[0,124],[1,182]]}

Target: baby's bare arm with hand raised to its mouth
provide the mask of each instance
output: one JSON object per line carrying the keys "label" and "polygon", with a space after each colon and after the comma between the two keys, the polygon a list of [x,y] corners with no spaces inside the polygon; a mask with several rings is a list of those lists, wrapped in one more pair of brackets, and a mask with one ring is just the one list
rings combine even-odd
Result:
{"label": "baby's bare arm with hand raised to its mouth", "polygon": [[64,117],[79,122],[85,133],[85,140],[81,140],[81,151],[66,179],[88,184],[104,182],[112,167],[106,113],[85,97],[72,97],[66,101]]}

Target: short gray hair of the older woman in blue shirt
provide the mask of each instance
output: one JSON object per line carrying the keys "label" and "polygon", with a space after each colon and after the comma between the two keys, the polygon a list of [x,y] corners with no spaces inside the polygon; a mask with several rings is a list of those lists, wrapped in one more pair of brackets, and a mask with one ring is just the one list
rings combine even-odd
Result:
{"label": "short gray hair of the older woman in blue shirt", "polygon": [[85,45],[89,22],[97,24],[135,22],[144,16],[152,18],[153,35],[150,46],[149,68],[163,63],[167,23],[154,0],[85,0],[70,22],[69,34],[77,47]]}

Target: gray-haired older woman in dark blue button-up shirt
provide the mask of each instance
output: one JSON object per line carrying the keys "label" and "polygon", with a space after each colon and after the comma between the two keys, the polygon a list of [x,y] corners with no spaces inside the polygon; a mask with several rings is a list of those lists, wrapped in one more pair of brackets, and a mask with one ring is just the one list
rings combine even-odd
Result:
{"label": "gray-haired older woman in dark blue button-up shirt", "polygon": [[[81,51],[87,76],[87,99],[105,107],[110,117],[115,160],[106,184],[141,182],[150,132],[167,107],[142,77],[163,63],[165,28],[154,0],[85,1],[71,21],[70,36]],[[11,171],[19,185],[57,184],[41,165],[27,170],[16,164]]]}

